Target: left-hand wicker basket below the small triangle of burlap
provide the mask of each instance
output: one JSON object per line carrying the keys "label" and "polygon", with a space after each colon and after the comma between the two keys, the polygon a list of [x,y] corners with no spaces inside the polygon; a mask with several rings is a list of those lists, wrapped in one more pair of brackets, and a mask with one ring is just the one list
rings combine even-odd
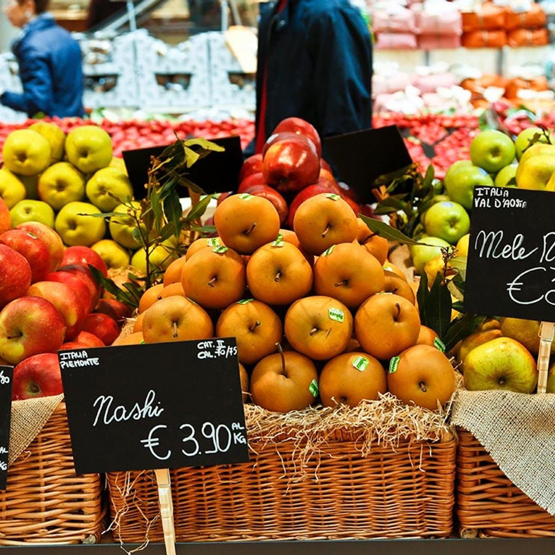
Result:
{"label": "left-hand wicker basket below the small triangle of burlap", "polygon": [[8,468],[0,545],[93,543],[104,529],[100,475],[75,476],[65,403]]}

